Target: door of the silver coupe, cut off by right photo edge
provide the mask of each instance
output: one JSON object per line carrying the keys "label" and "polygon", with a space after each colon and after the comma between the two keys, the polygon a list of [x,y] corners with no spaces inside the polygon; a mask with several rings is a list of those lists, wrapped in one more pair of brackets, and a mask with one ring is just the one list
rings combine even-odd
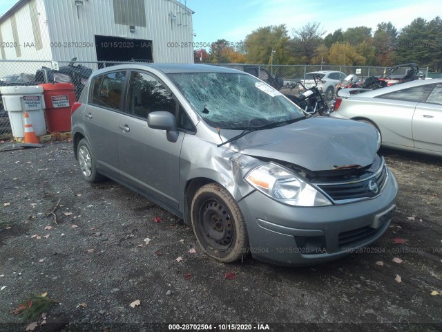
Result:
{"label": "door of the silver coupe, cut off by right photo edge", "polygon": [[442,84],[428,86],[430,95],[417,105],[413,117],[414,146],[442,152]]}

